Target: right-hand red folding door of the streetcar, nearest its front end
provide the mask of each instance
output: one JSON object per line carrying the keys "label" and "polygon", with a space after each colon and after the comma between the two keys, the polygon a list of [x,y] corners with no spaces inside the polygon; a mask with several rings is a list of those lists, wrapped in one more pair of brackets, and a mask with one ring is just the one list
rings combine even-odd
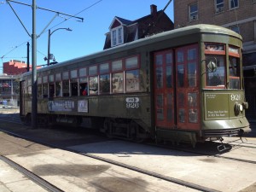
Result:
{"label": "right-hand red folding door of the streetcar, nearest its front end", "polygon": [[175,50],[177,129],[199,129],[198,45]]}

